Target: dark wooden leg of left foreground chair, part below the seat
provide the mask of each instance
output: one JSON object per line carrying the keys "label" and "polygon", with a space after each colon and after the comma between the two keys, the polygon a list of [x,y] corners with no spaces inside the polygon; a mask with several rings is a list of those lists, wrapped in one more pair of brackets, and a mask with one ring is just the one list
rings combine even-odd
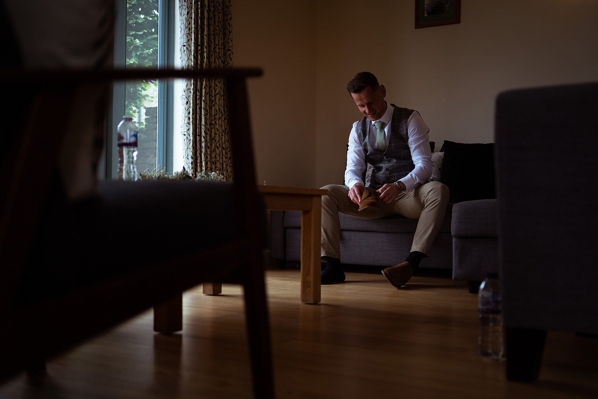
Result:
{"label": "dark wooden leg of left foreground chair, part below the seat", "polygon": [[264,267],[260,257],[253,257],[248,270],[248,279],[243,284],[245,291],[245,315],[251,372],[254,380],[255,398],[274,397],[272,351],[270,343],[270,321],[264,284]]}

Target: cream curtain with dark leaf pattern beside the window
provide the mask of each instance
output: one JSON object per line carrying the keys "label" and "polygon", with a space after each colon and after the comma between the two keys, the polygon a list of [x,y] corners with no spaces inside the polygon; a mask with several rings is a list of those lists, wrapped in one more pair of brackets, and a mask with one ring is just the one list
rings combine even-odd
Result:
{"label": "cream curtain with dark leaf pattern beside the window", "polygon": [[[232,68],[231,0],[180,0],[181,66]],[[233,162],[228,138],[225,83],[186,80],[182,94],[185,169],[220,172],[230,181]]]}

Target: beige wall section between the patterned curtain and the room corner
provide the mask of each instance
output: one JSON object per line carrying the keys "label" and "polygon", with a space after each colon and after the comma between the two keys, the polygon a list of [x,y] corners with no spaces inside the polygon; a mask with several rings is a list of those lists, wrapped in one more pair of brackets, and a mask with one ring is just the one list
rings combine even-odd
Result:
{"label": "beige wall section between the patterned curtain and the room corner", "polygon": [[249,83],[257,180],[313,187],[316,179],[316,1],[233,0],[234,66]]}

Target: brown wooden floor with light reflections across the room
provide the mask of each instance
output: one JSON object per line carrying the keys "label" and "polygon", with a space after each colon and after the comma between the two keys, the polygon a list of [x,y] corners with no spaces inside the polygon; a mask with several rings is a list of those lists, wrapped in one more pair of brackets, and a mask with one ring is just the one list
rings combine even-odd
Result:
{"label": "brown wooden floor with light reflections across the room", "polygon": [[[478,357],[465,282],[414,276],[397,290],[378,272],[348,272],[310,305],[299,281],[299,270],[267,270],[277,397],[598,397],[598,339],[550,332],[534,384],[507,382],[504,363]],[[216,297],[199,287],[184,304],[181,334],[152,333],[149,311],[51,361],[41,383],[5,384],[0,398],[251,397],[240,287]]]}

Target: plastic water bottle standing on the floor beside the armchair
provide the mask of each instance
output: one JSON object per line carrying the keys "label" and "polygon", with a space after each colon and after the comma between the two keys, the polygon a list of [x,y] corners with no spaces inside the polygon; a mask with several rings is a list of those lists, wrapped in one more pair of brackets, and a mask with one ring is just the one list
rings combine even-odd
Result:
{"label": "plastic water bottle standing on the floor beside the armchair", "polygon": [[486,273],[478,294],[480,336],[478,353],[483,357],[502,359],[501,285],[497,273]]}

